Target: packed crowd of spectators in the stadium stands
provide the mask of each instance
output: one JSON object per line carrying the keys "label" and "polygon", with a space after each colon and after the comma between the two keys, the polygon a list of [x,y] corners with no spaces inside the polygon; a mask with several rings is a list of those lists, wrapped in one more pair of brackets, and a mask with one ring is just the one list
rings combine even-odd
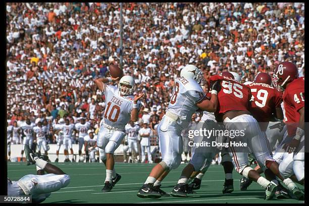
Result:
{"label": "packed crowd of spectators in the stadium stands", "polygon": [[[120,60],[119,3],[7,3],[8,124],[105,110],[94,80]],[[291,61],[304,75],[304,3],[124,3],[123,71],[144,92],[139,122],[153,128],[187,64],[243,81]],[[201,114],[196,115],[196,120]]]}

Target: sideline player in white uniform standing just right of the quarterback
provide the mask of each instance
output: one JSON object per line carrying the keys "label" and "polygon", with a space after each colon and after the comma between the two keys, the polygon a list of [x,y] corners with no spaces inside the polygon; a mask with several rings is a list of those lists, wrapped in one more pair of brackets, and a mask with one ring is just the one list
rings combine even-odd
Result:
{"label": "sideline player in white uniform standing just right of the quarterback", "polygon": [[138,147],[137,147],[137,135],[138,130],[140,129],[139,125],[134,125],[133,121],[129,122],[129,125],[126,126],[126,133],[128,139],[128,146],[129,146],[129,160],[128,163],[134,162],[132,158],[132,151],[135,152],[135,157],[137,161],[139,161],[139,154],[138,154]]}

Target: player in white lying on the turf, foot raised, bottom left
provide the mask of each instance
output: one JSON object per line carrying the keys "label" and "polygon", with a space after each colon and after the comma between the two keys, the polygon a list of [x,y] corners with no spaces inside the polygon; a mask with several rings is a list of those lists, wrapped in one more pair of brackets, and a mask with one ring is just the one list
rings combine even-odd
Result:
{"label": "player in white lying on the turf, foot raised, bottom left", "polygon": [[[70,176],[47,163],[47,156],[34,154],[28,145],[25,145],[25,155],[29,165],[36,165],[37,175],[25,175],[18,181],[8,178],[8,196],[31,195],[32,203],[39,203],[50,196],[51,192],[68,186]],[[44,174],[44,171],[48,174]]]}

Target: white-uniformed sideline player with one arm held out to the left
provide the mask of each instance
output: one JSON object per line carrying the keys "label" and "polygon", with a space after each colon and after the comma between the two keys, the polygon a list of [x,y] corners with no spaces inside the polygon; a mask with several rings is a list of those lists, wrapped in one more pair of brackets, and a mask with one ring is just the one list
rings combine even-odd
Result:
{"label": "white-uniformed sideline player with one arm held out to the left", "polygon": [[66,159],[65,159],[65,162],[71,162],[69,160],[69,151],[68,151],[68,148],[70,148],[70,151],[71,151],[71,155],[72,155],[72,162],[75,162],[74,160],[74,152],[73,152],[73,148],[72,148],[72,133],[73,133],[73,130],[74,130],[74,124],[70,124],[70,120],[69,119],[66,119],[65,120],[66,124],[56,124],[55,125],[55,129],[58,129],[58,130],[62,130],[64,132],[64,139],[63,139],[63,144],[64,144],[64,153],[65,153],[65,156],[66,156]]}

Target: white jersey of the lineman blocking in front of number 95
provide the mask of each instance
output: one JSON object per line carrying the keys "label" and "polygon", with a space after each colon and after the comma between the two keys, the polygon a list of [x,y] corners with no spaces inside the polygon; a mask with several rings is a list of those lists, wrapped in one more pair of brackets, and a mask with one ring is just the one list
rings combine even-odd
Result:
{"label": "white jersey of the lineman blocking in front of number 95", "polygon": [[180,120],[177,123],[182,128],[187,128],[193,113],[198,110],[196,103],[204,96],[203,89],[194,79],[177,78],[167,112],[178,115]]}

